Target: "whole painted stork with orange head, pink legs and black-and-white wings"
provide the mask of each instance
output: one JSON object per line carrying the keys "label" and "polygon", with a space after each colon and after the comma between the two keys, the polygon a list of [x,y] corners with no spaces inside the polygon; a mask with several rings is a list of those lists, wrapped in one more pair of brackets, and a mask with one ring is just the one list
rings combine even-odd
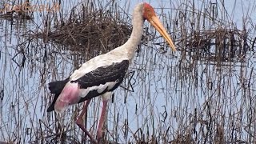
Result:
{"label": "whole painted stork with orange head, pink legs and black-and-white wings", "polygon": [[[142,38],[145,19],[162,34],[163,38],[170,44],[170,48],[175,51],[174,43],[157,18],[153,7],[146,2],[140,3],[134,8],[132,19],[133,30],[130,38],[124,45],[83,63],[66,80],[49,83],[50,93],[55,94],[55,96],[47,112],[55,110],[61,113],[70,105],[86,101],[76,124],[90,137],[92,142],[100,142],[107,102],[113,90],[118,88],[122,83],[128,67],[132,62],[136,47]],[[98,123],[96,141],[83,125],[82,117],[86,113],[90,99],[98,96],[102,96],[103,105],[102,114]]]}

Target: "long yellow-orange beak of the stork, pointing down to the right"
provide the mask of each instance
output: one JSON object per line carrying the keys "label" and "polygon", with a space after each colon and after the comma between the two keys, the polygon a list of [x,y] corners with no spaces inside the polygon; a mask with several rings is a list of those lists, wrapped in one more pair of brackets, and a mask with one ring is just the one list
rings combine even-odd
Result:
{"label": "long yellow-orange beak of the stork, pointing down to the right", "polygon": [[167,34],[166,29],[162,26],[162,23],[160,22],[160,20],[158,19],[158,17],[156,17],[155,15],[151,16],[150,18],[148,18],[148,21],[150,22],[150,24],[152,26],[155,27],[155,29],[158,30],[158,32],[160,34],[162,34],[162,37],[166,39],[166,41],[169,43],[170,48],[173,51],[176,51],[175,46],[174,46],[174,42],[171,40],[169,34]]}

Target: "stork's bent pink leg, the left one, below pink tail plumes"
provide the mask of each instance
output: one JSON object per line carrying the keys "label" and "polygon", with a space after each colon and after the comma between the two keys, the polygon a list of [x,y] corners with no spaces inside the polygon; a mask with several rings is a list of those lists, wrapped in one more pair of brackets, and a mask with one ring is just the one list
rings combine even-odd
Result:
{"label": "stork's bent pink leg, the left one, below pink tail plumes", "polygon": [[81,114],[78,116],[78,119],[76,121],[76,124],[80,127],[80,129],[82,129],[82,131],[85,132],[85,134],[90,138],[90,140],[93,142],[93,143],[97,143],[96,140],[93,138],[93,136],[86,130],[85,126],[83,125],[83,122],[82,122],[82,117],[84,116],[84,114],[87,113],[87,107],[89,106],[89,103],[90,103],[90,99],[86,101],[86,104],[85,106],[82,107],[82,112]]}

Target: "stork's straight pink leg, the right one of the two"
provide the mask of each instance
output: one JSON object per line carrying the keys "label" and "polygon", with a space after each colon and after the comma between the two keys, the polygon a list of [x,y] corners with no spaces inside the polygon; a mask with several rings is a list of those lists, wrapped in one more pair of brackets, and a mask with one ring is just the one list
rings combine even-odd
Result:
{"label": "stork's straight pink leg, the right one of the two", "polygon": [[99,143],[100,143],[101,138],[102,138],[102,128],[103,128],[103,124],[104,124],[105,118],[106,118],[107,102],[108,102],[108,100],[103,100],[102,114],[101,114],[101,117],[99,118],[99,122],[98,122],[97,140],[98,140]]}

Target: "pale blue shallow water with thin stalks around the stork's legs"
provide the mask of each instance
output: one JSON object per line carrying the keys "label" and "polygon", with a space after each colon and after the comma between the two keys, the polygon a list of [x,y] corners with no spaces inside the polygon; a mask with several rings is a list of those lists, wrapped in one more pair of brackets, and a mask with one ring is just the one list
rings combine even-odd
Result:
{"label": "pale blue shallow water with thin stalks around the stork's legs", "polygon": [[[168,5],[176,10],[178,3]],[[240,19],[241,9],[235,10],[234,19]],[[46,113],[52,100],[47,84],[67,78],[90,56],[24,37],[35,30],[40,18],[37,15],[35,22],[0,20],[0,142],[82,142],[82,131],[74,124],[82,104],[64,114]],[[255,18],[251,21],[255,23]],[[163,40],[142,44],[122,86],[115,90],[107,112],[107,140],[255,142],[255,48],[221,61],[209,59],[214,54],[202,57],[182,46],[172,53],[156,42]],[[90,103],[86,127],[92,134],[101,105],[100,98]]]}

